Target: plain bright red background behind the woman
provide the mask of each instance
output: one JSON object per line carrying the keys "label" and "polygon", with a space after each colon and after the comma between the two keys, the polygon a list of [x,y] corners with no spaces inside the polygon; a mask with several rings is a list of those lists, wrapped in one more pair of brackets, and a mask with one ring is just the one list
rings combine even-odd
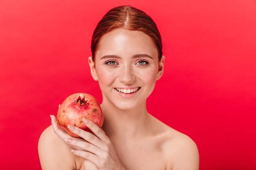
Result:
{"label": "plain bright red background behind the woman", "polygon": [[101,102],[90,39],[123,4],[148,13],[163,38],[164,75],[148,111],[196,142],[201,170],[255,170],[255,0],[1,0],[1,169],[40,169],[38,139],[65,97]]}

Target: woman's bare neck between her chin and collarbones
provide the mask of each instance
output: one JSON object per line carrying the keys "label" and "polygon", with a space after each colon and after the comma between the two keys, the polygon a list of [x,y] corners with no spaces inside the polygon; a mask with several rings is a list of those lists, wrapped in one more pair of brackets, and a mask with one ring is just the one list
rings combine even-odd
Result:
{"label": "woman's bare neck between her chin and collarbones", "polygon": [[136,108],[121,110],[103,100],[101,108],[104,114],[102,129],[110,139],[130,140],[146,134],[150,117],[146,101]]}

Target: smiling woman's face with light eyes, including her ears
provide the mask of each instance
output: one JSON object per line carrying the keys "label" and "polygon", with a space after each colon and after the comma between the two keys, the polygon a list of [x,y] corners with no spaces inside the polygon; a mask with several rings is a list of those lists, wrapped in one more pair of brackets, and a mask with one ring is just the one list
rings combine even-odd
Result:
{"label": "smiling woman's face with light eyes, including her ears", "polygon": [[103,35],[94,62],[89,57],[103,101],[108,100],[122,110],[146,102],[156,80],[162,76],[163,62],[164,56],[159,63],[157,49],[148,35],[126,29]]}

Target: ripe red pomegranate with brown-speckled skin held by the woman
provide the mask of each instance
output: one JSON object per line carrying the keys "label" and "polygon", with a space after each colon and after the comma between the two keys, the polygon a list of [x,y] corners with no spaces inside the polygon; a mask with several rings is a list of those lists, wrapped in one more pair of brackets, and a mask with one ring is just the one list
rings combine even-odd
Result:
{"label": "ripe red pomegranate with brown-speckled skin held by the woman", "polygon": [[67,128],[68,125],[77,126],[93,134],[83,123],[83,118],[91,120],[100,128],[103,125],[101,106],[94,96],[87,93],[75,93],[68,96],[59,106],[56,116],[58,126],[72,137],[79,136],[70,131]]}

